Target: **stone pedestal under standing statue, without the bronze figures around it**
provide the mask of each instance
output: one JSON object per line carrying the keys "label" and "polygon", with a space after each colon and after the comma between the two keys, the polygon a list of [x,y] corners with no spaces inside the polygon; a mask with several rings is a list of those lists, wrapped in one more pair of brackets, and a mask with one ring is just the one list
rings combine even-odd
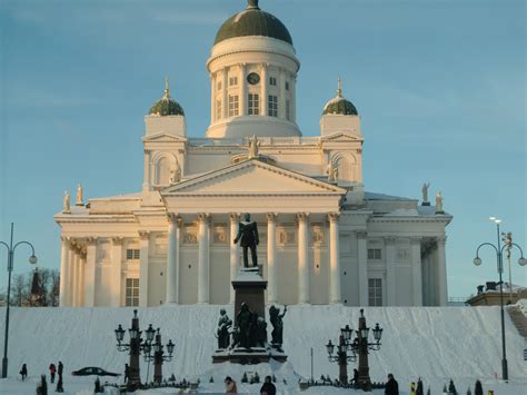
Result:
{"label": "stone pedestal under standing statue, without the bronze figures around it", "polygon": [[[238,271],[238,276],[232,280],[232,287],[235,288],[235,312],[232,314],[235,325],[242,303],[249,307],[250,312],[266,320],[265,290],[267,288],[267,280],[260,276],[259,268],[241,268]],[[265,336],[264,346],[260,344],[260,346],[246,348],[238,345],[233,348],[218,349],[212,355],[212,363],[217,364],[229,361],[235,364],[260,364],[268,363],[271,358],[282,363],[286,362],[287,355],[267,343],[267,332]]]}

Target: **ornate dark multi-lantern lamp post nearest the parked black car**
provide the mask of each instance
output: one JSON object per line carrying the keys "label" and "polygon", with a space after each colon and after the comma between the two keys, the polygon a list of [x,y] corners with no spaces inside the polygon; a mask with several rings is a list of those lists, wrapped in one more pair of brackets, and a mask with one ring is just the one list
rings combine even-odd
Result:
{"label": "ornate dark multi-lantern lamp post nearest the parked black car", "polygon": [[117,349],[119,352],[130,352],[130,367],[127,389],[133,392],[141,384],[141,376],[139,374],[139,355],[141,354],[141,350],[146,352],[151,346],[156,330],[152,328],[152,324],[150,324],[148,329],[145,330],[147,337],[143,340],[141,338],[142,332],[139,329],[139,318],[137,317],[137,310],[133,310],[131,327],[130,329],[128,329],[128,333],[130,335],[130,343],[128,344],[122,343],[125,338],[125,332],[126,330],[120,324],[115,330],[117,339]]}

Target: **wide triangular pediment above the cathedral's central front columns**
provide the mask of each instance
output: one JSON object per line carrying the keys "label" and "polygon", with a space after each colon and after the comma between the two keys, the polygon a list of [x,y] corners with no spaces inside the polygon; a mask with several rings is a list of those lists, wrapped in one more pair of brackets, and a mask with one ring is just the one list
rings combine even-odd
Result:
{"label": "wide triangular pediment above the cathedral's central front columns", "polygon": [[259,160],[207,172],[161,190],[171,195],[334,195],[346,189]]}

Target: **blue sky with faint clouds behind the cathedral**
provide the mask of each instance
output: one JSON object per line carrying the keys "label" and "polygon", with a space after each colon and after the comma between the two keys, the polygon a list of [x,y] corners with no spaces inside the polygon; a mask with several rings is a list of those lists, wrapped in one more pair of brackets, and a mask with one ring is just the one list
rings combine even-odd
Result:
{"label": "blue sky with faint clouds behind the cathedral", "polygon": [[[34,245],[59,268],[62,194],[142,185],[142,117],[165,75],[188,135],[210,122],[206,70],[221,23],[243,0],[0,0],[0,240]],[[291,33],[301,67],[297,122],[319,134],[342,79],[361,117],[367,191],[420,199],[441,190],[451,297],[496,280],[489,216],[526,250],[526,9],[520,0],[260,0]],[[1,247],[0,247],[1,248]],[[16,251],[14,273],[30,270]],[[527,267],[513,255],[513,283]],[[0,250],[0,288],[7,284]],[[505,274],[508,276],[508,271]]]}

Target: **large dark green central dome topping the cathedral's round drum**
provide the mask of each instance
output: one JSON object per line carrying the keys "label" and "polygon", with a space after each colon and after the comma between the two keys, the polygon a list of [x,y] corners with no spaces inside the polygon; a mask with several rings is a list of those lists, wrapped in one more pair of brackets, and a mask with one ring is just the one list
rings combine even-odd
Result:
{"label": "large dark green central dome topping the cathedral's round drum", "polygon": [[260,10],[258,0],[248,0],[247,8],[227,19],[216,34],[218,42],[245,36],[264,36],[286,41],[292,46],[291,34],[275,16]]}

